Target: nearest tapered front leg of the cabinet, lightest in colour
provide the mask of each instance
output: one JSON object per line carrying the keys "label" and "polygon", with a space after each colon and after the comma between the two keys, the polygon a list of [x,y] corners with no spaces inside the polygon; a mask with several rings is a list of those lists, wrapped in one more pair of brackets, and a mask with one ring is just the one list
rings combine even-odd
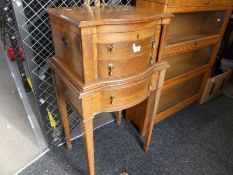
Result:
{"label": "nearest tapered front leg of the cabinet, lightest in colour", "polygon": [[86,156],[89,168],[89,174],[95,174],[95,162],[94,162],[94,138],[93,138],[93,119],[89,119],[83,122],[84,138],[86,146]]}

